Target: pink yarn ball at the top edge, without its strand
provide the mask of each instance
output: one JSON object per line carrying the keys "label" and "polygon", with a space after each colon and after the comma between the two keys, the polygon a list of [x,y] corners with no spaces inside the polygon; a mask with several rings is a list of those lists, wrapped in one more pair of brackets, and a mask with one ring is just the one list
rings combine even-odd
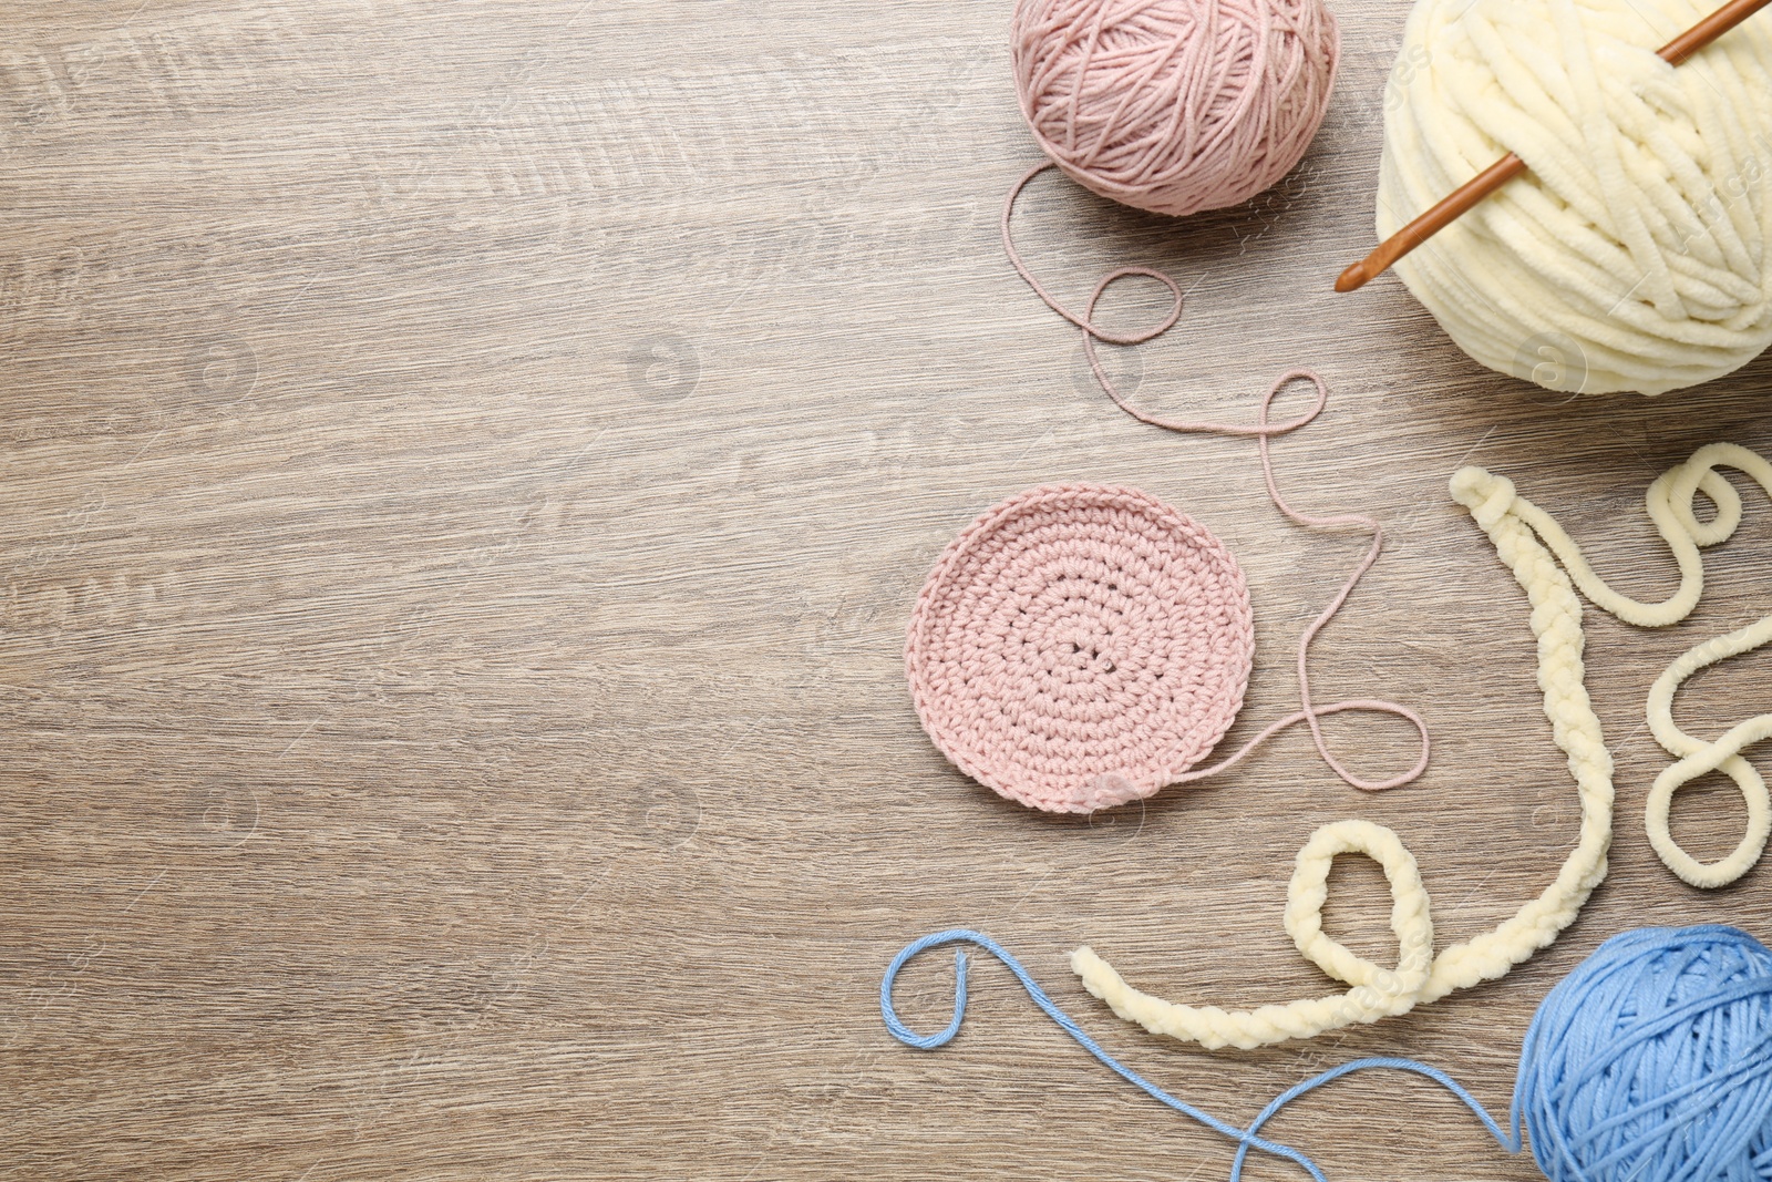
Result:
{"label": "pink yarn ball at the top edge, without its strand", "polygon": [[1019,0],[1010,35],[1045,154],[1173,216],[1244,202],[1299,163],[1340,44],[1322,0]]}

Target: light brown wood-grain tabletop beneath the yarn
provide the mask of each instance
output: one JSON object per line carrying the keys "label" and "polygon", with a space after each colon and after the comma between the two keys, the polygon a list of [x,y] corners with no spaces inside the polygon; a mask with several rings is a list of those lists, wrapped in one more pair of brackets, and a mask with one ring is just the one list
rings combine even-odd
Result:
{"label": "light brown wood-grain tabletop beneath the yarn", "polygon": [[[1035,158],[1006,4],[9,5],[0,1173],[1217,1178],[1226,1145],[1116,1086],[1006,973],[982,966],[966,1033],[923,1054],[881,1028],[881,968],[985,929],[1113,1053],[1246,1120],[1372,1053],[1501,1109],[1538,998],[1607,934],[1767,934],[1765,867],[1701,895],[1641,824],[1650,682],[1772,606],[1747,493],[1692,620],[1589,613],[1620,824],[1556,948],[1242,1054],[1131,1030],[1065,968],[1090,941],[1177,999],[1324,989],[1279,913],[1338,817],[1403,836],[1442,941],[1512,914],[1575,797],[1524,597],[1446,477],[1513,477],[1659,595],[1648,480],[1705,441],[1772,448],[1765,358],[1565,406],[1465,360],[1395,278],[1331,292],[1372,246],[1405,18],[1336,11],[1329,122],[1281,186],[1168,222],[1044,177],[1019,229],[1070,299],[1123,262],[1182,276],[1180,326],[1111,351],[1152,408],[1242,418],[1281,369],[1327,376],[1281,480],[1391,544],[1317,647],[1318,693],[1418,705],[1435,762],[1366,797],[1290,734],[1088,824],[923,737],[902,629],[946,540],[1061,478],[1207,523],[1260,629],[1233,743],[1288,709],[1297,627],[1361,540],[1281,519],[1251,445],[1115,411],[1003,261],[998,202]],[[1678,716],[1717,734],[1765,684],[1731,661]],[[1412,751],[1384,721],[1329,730],[1368,771]],[[1706,782],[1675,828],[1717,856],[1740,820]],[[1343,859],[1331,890],[1331,929],[1382,959],[1379,872]],[[907,971],[907,1019],[944,1021],[950,973]],[[1274,1132],[1338,1182],[1536,1177],[1412,1081],[1345,1083]]]}

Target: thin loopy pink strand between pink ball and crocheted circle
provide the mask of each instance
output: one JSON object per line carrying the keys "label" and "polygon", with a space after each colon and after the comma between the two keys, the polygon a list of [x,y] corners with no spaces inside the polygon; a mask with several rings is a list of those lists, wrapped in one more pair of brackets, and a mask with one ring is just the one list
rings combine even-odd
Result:
{"label": "thin loopy pink strand between pink ball and crocheted circle", "polygon": [[[1097,358],[1095,354],[1095,340],[1099,338],[1116,346],[1134,346],[1162,335],[1164,331],[1173,328],[1182,315],[1182,289],[1175,282],[1175,278],[1171,278],[1164,271],[1157,271],[1155,268],[1116,268],[1108,275],[1104,275],[1100,282],[1095,284],[1095,291],[1090,292],[1090,299],[1084,305],[1083,315],[1070,312],[1065,305],[1058,301],[1056,296],[1045,291],[1045,287],[1042,287],[1040,282],[1033,276],[1033,271],[1028,269],[1028,264],[1022,261],[1021,252],[1015,250],[1015,237],[1012,234],[1010,223],[1012,223],[1012,214],[1015,211],[1015,198],[1021,197],[1021,191],[1028,186],[1030,181],[1033,181],[1033,177],[1040,175],[1042,172],[1053,167],[1054,165],[1049,161],[1038,163],[1026,174],[1022,174],[1022,177],[1010,188],[1008,198],[1003,202],[1003,250],[1008,253],[1010,264],[1015,268],[1021,278],[1033,289],[1033,292],[1040,296],[1040,299],[1045,301],[1045,305],[1053,308],[1053,312],[1058,312],[1058,315],[1070,321],[1083,333],[1083,349],[1088,354],[1090,370],[1095,374],[1095,381],[1100,383],[1108,397],[1113,399],[1115,406],[1118,406],[1122,411],[1125,411],[1127,415],[1143,424],[1162,427],[1166,431],[1255,438],[1262,461],[1262,480],[1267,484],[1267,496],[1269,500],[1274,502],[1274,507],[1279,509],[1281,514],[1313,530],[1338,530],[1347,526],[1359,526],[1372,533],[1372,546],[1366,548],[1364,556],[1359,560],[1359,564],[1356,564],[1352,574],[1348,574],[1347,581],[1341,583],[1341,588],[1334,594],[1329,604],[1317,615],[1317,618],[1311,620],[1310,627],[1306,627],[1299,634],[1297,673],[1299,673],[1301,709],[1295,711],[1294,714],[1288,714],[1286,718],[1269,723],[1267,728],[1263,728],[1258,735],[1249,739],[1242,748],[1239,748],[1228,758],[1223,758],[1217,764],[1212,764],[1210,767],[1185,771],[1171,778],[1170,783],[1191,783],[1194,780],[1205,780],[1207,776],[1216,776],[1240,764],[1251,751],[1255,751],[1255,748],[1262,746],[1263,743],[1267,743],[1267,739],[1274,737],[1281,730],[1294,727],[1297,723],[1306,723],[1310,727],[1311,743],[1317,746],[1317,755],[1345,783],[1363,792],[1382,792],[1386,789],[1395,789],[1414,782],[1416,778],[1421,776],[1423,771],[1426,771],[1432,748],[1426,723],[1421,719],[1418,712],[1396,702],[1386,702],[1380,698],[1348,698],[1343,702],[1333,702],[1329,705],[1315,705],[1315,702],[1311,700],[1311,675],[1310,675],[1311,642],[1315,642],[1317,634],[1329,626],[1329,620],[1333,620],[1336,613],[1341,611],[1341,606],[1354,594],[1354,588],[1359,587],[1359,581],[1364,578],[1366,571],[1372,569],[1372,565],[1379,560],[1379,555],[1384,551],[1384,528],[1379,525],[1375,517],[1368,517],[1364,514],[1336,514],[1331,517],[1318,517],[1299,512],[1286,502],[1285,496],[1279,494],[1279,484],[1274,478],[1271,441],[1274,436],[1283,436],[1292,431],[1297,431],[1299,427],[1315,420],[1324,411],[1324,408],[1329,404],[1327,383],[1318,374],[1302,369],[1281,374],[1281,377],[1269,388],[1267,395],[1262,399],[1255,425],[1159,418],[1157,415],[1150,415],[1148,411],[1143,411],[1127,402],[1125,397],[1122,397],[1122,393],[1115,388],[1113,381],[1109,381],[1106,370],[1102,369],[1100,358]],[[1171,296],[1170,310],[1162,317],[1162,321],[1157,323],[1157,326],[1148,328],[1145,331],[1109,333],[1095,323],[1095,307],[1100,301],[1102,292],[1106,292],[1109,285],[1113,285],[1120,278],[1132,275],[1154,278],[1164,287],[1168,287]],[[1308,411],[1304,411],[1297,418],[1290,418],[1281,424],[1269,422],[1269,413],[1272,409],[1274,399],[1279,395],[1281,390],[1285,390],[1288,385],[1299,379],[1310,381],[1317,388],[1317,400],[1311,404]],[[1421,751],[1416,757],[1416,762],[1407,771],[1389,776],[1386,780],[1366,780],[1363,776],[1354,774],[1329,750],[1329,741],[1325,739],[1322,730],[1324,716],[1341,714],[1347,711],[1391,714],[1395,718],[1409,721],[1416,728],[1416,734],[1421,739]]]}

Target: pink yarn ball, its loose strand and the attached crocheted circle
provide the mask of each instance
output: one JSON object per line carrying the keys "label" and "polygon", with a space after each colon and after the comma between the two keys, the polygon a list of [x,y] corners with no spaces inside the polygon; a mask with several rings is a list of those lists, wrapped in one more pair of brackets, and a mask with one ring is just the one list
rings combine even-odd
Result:
{"label": "pink yarn ball, its loose strand and the attached crocheted circle", "polygon": [[[1375,519],[1302,514],[1274,482],[1271,443],[1322,413],[1324,379],[1283,374],[1247,425],[1143,411],[1108,379],[1095,342],[1136,346],[1164,333],[1182,315],[1180,285],[1152,268],[1118,268],[1076,312],[1035,278],[1010,234],[1015,198],[1054,163],[1104,197],[1168,214],[1265,190],[1322,122],[1340,48],[1334,18],[1320,0],[1019,0],[1012,48],[1022,113],[1051,158],[1003,202],[1003,248],[1015,271],[1083,331],[1095,379],[1123,411],[1170,431],[1255,438],[1279,512],[1304,526],[1368,530],[1372,544],[1299,634],[1301,709],[1217,764],[1194,767],[1230,730],[1249,679],[1255,638],[1235,560],[1203,526],[1136,489],[1022,493],[960,533],[918,597],[905,670],[923,728],[966,774],[1049,812],[1093,812],[1217,774],[1301,721],[1322,760],[1356,789],[1409,783],[1428,766],[1419,714],[1375,698],[1311,702],[1311,642],[1384,548]],[[1168,289],[1168,312],[1145,330],[1097,324],[1102,294],[1134,275]],[[1272,422],[1276,395],[1299,379],[1315,386],[1313,406]],[[1322,718],[1341,711],[1412,723],[1421,737],[1414,766],[1384,780],[1348,771],[1322,730]]]}

